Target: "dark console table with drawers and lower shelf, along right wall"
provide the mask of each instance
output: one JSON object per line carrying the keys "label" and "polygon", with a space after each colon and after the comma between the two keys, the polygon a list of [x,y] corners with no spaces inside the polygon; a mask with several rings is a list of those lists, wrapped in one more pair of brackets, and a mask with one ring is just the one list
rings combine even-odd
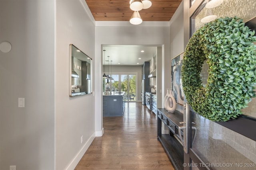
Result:
{"label": "dark console table with drawers and lower shelf, along right wall", "polygon": [[[184,152],[178,135],[178,127],[183,125],[180,124],[183,121],[183,114],[179,111],[170,113],[164,108],[158,108],[157,115],[157,139],[162,144],[174,168],[182,170],[184,169],[182,166],[184,163]],[[162,123],[168,127],[169,134],[162,134]],[[183,135],[183,133],[181,134]]]}

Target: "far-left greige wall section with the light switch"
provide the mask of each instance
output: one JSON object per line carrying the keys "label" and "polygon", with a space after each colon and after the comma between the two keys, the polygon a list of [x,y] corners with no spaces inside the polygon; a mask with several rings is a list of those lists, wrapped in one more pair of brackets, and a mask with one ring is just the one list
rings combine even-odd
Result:
{"label": "far-left greige wall section with the light switch", "polygon": [[[1,0],[0,169],[54,169],[54,0]],[[18,107],[25,98],[25,107]]]}

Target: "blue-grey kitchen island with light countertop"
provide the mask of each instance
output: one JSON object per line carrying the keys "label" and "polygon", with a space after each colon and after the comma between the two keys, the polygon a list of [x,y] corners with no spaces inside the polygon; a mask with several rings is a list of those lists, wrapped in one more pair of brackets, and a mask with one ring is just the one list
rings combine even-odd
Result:
{"label": "blue-grey kitchen island with light countertop", "polygon": [[103,94],[103,117],[122,116],[125,106],[125,92]]}

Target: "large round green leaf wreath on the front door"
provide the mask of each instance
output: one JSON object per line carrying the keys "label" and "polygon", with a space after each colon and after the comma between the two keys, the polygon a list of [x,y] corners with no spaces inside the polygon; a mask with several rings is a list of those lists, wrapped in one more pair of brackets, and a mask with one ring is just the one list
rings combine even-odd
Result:
{"label": "large round green leaf wreath on the front door", "polygon": [[[182,86],[188,104],[212,121],[228,121],[242,114],[255,97],[256,41],[239,18],[218,18],[190,38],[182,61]],[[200,72],[209,66],[206,87]]]}

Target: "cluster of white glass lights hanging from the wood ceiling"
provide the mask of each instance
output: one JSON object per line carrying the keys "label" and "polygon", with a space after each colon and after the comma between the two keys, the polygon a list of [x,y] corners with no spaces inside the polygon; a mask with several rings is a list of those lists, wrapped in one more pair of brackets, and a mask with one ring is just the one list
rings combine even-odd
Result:
{"label": "cluster of white glass lights hanging from the wood ceiling", "polygon": [[150,0],[130,0],[130,9],[133,10],[130,23],[133,25],[139,25],[142,23],[139,11],[142,9],[148,9],[152,5]]}

